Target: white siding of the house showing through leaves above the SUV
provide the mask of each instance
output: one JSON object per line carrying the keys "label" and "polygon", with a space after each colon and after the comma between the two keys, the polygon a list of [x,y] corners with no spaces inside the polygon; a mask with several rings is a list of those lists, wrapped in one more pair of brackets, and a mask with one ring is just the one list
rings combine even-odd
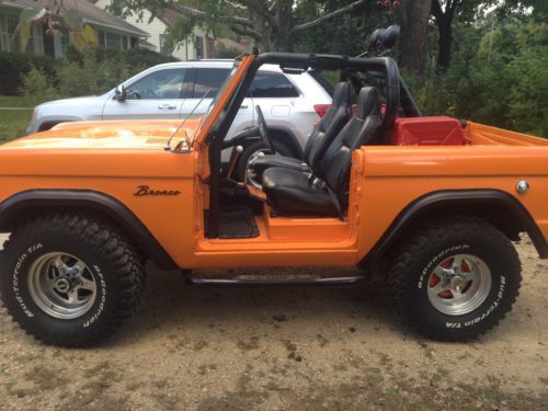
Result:
{"label": "white siding of the house showing through leaves above the SUV", "polygon": [[[95,2],[95,5],[100,9],[106,9],[109,5],[111,5],[112,0],[98,0]],[[168,26],[165,23],[163,23],[160,19],[155,18],[152,21],[149,23],[150,20],[150,12],[145,10],[142,12],[142,19],[139,19],[138,13],[133,13],[132,15],[128,15],[124,18],[124,20],[136,27],[139,27],[140,30],[147,32],[150,37],[147,38],[147,42],[152,44],[156,49],[155,52],[161,53],[161,38],[165,34],[165,30]],[[194,35],[199,36],[204,41],[204,56],[203,57],[210,57],[207,55],[207,36],[206,32],[203,28],[195,28],[194,30]],[[175,49],[172,53],[172,56],[180,59],[180,60],[192,60],[197,58],[196,56],[196,48],[194,46],[194,42],[192,39],[190,41],[183,41],[179,45],[175,46]]]}

